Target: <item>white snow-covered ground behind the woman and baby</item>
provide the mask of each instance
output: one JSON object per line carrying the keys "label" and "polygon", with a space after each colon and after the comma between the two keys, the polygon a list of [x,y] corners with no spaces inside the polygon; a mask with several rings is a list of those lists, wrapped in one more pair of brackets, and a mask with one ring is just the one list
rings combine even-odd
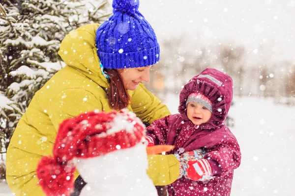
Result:
{"label": "white snow-covered ground behind the woman and baby", "polygon": [[[229,116],[235,126],[242,162],[235,171],[232,196],[294,196],[295,107],[275,105],[273,99],[235,98]],[[178,95],[165,99],[177,113]],[[12,196],[0,182],[0,196]]]}

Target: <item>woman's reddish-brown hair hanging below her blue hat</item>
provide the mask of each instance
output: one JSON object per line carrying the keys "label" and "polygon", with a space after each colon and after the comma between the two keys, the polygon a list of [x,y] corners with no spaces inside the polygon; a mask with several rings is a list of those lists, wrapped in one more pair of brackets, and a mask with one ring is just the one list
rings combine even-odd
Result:
{"label": "woman's reddish-brown hair hanging below her blue hat", "polygon": [[106,69],[106,72],[110,76],[110,89],[107,90],[110,107],[115,110],[126,108],[130,103],[130,96],[120,73],[115,69]]}

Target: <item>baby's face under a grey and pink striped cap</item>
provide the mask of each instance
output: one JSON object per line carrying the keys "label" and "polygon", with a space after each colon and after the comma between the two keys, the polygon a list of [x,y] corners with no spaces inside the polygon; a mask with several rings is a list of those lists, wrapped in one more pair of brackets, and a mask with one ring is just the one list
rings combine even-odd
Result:
{"label": "baby's face under a grey and pink striped cap", "polygon": [[202,104],[189,102],[186,107],[188,119],[196,125],[207,123],[212,113]]}

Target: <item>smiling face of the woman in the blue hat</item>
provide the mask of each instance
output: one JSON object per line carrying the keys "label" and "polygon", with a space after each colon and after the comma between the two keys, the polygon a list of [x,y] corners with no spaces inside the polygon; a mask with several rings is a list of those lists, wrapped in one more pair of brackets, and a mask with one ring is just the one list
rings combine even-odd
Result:
{"label": "smiling face of the woman in the blue hat", "polygon": [[125,89],[134,91],[137,88],[137,85],[142,81],[149,81],[149,69],[151,66],[139,67],[139,68],[124,68],[118,69]]}

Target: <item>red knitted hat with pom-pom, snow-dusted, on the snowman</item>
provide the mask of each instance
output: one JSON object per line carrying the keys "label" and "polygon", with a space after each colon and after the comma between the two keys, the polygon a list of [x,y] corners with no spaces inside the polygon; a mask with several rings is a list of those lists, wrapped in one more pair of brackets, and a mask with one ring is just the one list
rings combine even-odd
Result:
{"label": "red knitted hat with pom-pom, snow-dusted, on the snowman", "polygon": [[90,158],[133,147],[145,135],[145,125],[134,113],[91,111],[63,121],[53,147],[37,166],[39,185],[47,196],[68,196],[74,186],[71,160]]}

